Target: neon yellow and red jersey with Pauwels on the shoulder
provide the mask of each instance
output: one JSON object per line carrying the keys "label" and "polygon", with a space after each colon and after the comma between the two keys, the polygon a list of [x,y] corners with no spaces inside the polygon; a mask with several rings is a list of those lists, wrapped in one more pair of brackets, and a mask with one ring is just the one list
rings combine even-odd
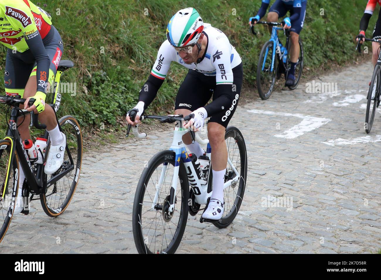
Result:
{"label": "neon yellow and red jersey with Pauwels on the shoulder", "polygon": [[26,39],[45,38],[50,27],[50,14],[29,0],[0,0],[0,43],[7,48],[23,53]]}

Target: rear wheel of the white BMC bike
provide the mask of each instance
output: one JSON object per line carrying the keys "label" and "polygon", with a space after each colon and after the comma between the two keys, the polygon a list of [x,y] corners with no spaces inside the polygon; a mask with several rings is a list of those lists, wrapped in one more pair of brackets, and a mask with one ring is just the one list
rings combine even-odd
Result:
{"label": "rear wheel of the white BMC bike", "polygon": [[237,216],[242,203],[243,194],[245,193],[247,177],[247,151],[241,131],[234,126],[228,126],[225,133],[225,142],[229,160],[224,182],[236,176],[234,169],[238,171],[239,179],[224,189],[224,214],[221,219],[213,222],[213,224],[220,229],[229,226],[235,216]]}

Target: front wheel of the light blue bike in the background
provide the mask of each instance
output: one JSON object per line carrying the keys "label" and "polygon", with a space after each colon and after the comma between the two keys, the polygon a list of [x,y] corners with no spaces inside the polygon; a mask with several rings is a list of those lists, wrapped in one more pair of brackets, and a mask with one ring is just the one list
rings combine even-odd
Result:
{"label": "front wheel of the light blue bike in the background", "polygon": [[[274,42],[268,41],[264,44],[261,53],[259,54],[257,66],[257,88],[258,94],[261,99],[270,97],[274,89],[276,80],[277,58],[275,54],[274,61],[272,56],[274,54]],[[273,64],[274,62],[274,64]]]}

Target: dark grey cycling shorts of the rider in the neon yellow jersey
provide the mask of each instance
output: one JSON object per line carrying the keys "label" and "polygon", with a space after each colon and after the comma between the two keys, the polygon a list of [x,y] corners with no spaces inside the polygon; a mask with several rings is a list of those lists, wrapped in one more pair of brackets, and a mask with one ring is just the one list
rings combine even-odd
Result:
{"label": "dark grey cycling shorts of the rider in the neon yellow jersey", "polygon": [[[54,77],[57,73],[57,67],[61,60],[64,46],[61,36],[54,26],[51,26],[49,33],[42,40],[46,52],[50,58],[50,69],[48,81],[53,84]],[[36,60],[30,50],[23,53],[8,49],[5,61],[4,86],[7,95],[15,96],[17,94],[24,95],[25,86],[29,77],[35,76],[37,71]]]}

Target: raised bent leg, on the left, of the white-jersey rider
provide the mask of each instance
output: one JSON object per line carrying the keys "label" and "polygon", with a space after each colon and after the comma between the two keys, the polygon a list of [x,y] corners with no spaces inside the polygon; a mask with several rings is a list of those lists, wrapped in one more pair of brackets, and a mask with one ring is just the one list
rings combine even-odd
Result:
{"label": "raised bent leg, on the left, of the white-jersey rider", "polygon": [[[211,85],[211,81],[214,85]],[[191,114],[192,111],[205,106],[211,98],[210,88],[215,86],[216,77],[207,77],[194,70],[189,70],[182,82],[175,101],[174,114],[182,114],[184,117]],[[191,152],[197,156],[201,154],[200,145],[195,142],[192,144],[191,136],[184,134],[182,141],[187,145]]]}

